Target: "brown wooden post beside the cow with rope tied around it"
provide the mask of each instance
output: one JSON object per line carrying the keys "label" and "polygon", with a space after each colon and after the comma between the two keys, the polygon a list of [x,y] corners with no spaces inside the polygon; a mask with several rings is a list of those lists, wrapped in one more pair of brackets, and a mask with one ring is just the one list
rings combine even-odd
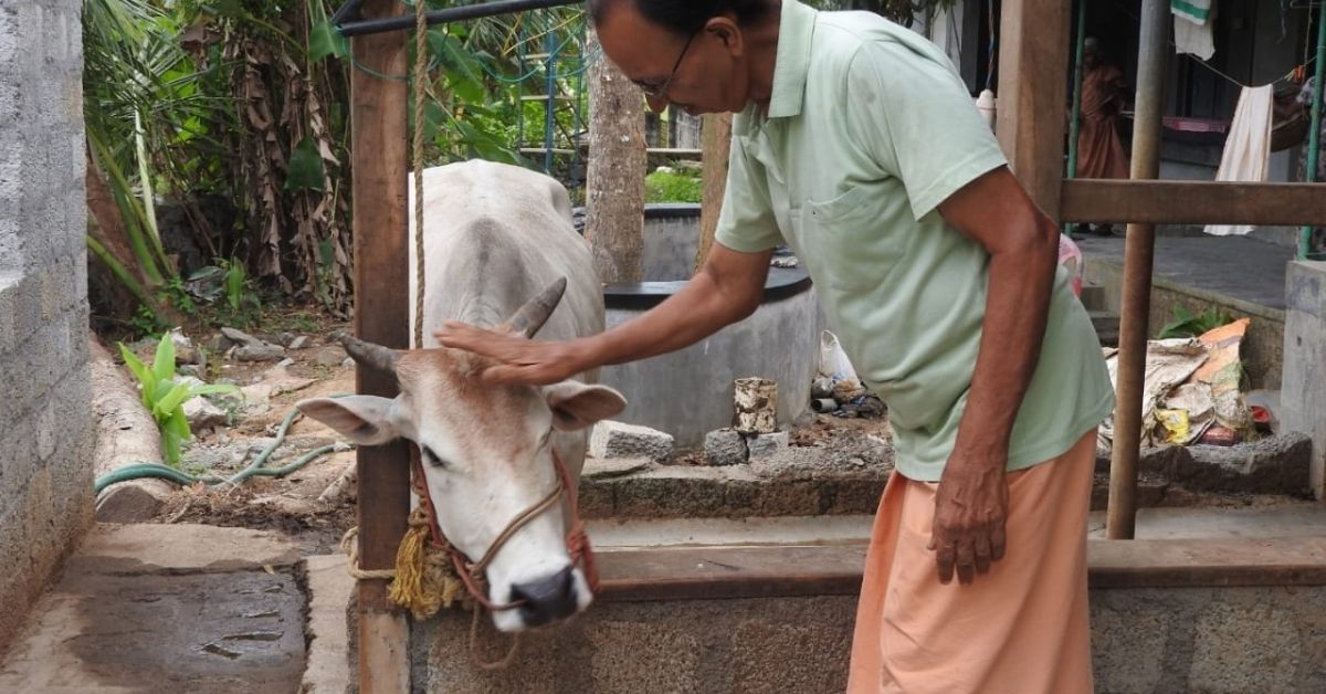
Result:
{"label": "brown wooden post beside the cow with rope tied around it", "polygon": [[[367,0],[365,19],[400,15],[395,0]],[[350,70],[351,159],[354,171],[354,332],[385,346],[410,345],[404,32],[354,38],[361,68]],[[358,393],[394,397],[391,377],[359,369]],[[406,531],[410,504],[408,449],[404,442],[358,451],[359,568],[389,569]],[[359,691],[410,691],[408,632],[387,604],[387,581],[359,581]]]}

